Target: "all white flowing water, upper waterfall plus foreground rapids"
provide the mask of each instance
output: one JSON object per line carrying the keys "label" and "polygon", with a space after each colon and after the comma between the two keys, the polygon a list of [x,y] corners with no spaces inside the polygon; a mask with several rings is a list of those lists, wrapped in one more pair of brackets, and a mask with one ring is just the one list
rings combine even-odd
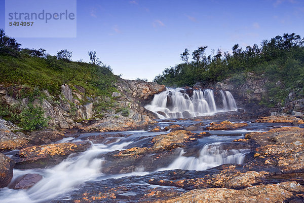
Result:
{"label": "all white flowing water, upper waterfall plus foreground rapids", "polygon": [[[215,113],[219,111],[235,111],[237,109],[235,100],[230,92],[220,91],[222,95],[221,108],[216,107],[212,90],[195,90],[189,97],[182,93],[181,89],[167,89],[167,91],[155,95],[153,101],[147,109],[153,109],[155,112],[165,112],[163,117],[182,117],[183,111],[187,111],[191,116],[202,115],[205,113]],[[169,99],[169,100],[168,100]],[[169,107],[168,107],[168,104]],[[160,115],[160,114],[159,114]],[[161,117],[161,115],[160,115]],[[174,124],[181,126],[195,126],[200,121],[194,120],[174,120]],[[213,122],[213,121],[206,121]],[[166,120],[159,120],[159,127],[173,124]],[[274,125],[274,124],[272,124]],[[154,126],[150,126],[150,129]],[[103,134],[106,138],[102,142],[92,141],[92,146],[85,152],[72,154],[61,163],[47,168],[35,168],[29,170],[14,170],[13,180],[25,174],[40,174],[43,179],[29,189],[15,190],[0,189],[0,199],[2,203],[22,202],[49,202],[51,200],[60,200],[60,202],[71,202],[70,194],[77,192],[88,183],[103,183],[107,180],[120,179],[122,177],[148,176],[151,173],[165,172],[166,170],[196,170],[204,171],[224,163],[241,164],[244,162],[246,154],[250,152],[248,146],[233,145],[235,139],[244,138],[244,134],[252,131],[264,131],[271,126],[264,124],[249,123],[247,127],[237,130],[209,131],[212,136],[199,138],[191,143],[191,146],[185,148],[176,148],[172,151],[169,158],[160,157],[159,161],[153,163],[154,169],[148,167],[149,156],[146,156],[146,162],[137,164],[137,159],[133,159],[134,170],[131,173],[105,174],[102,173],[104,165],[107,163],[107,154],[117,150],[125,150],[133,147],[149,146],[151,140],[159,134],[169,133],[168,131],[151,132],[148,130],[124,131],[124,132],[99,132],[72,134],[67,138],[56,143],[85,141],[89,137]],[[193,132],[203,132],[200,128]],[[165,153],[166,154],[166,153]],[[12,156],[9,153],[8,156]],[[116,167],[119,167],[115,165]],[[136,182],[135,182],[136,184]],[[145,184],[147,184],[145,182]],[[140,184],[137,184],[137,187]],[[127,192],[128,193],[128,192]],[[134,195],[136,192],[129,191],[128,194]],[[57,202],[57,201],[54,201]]]}

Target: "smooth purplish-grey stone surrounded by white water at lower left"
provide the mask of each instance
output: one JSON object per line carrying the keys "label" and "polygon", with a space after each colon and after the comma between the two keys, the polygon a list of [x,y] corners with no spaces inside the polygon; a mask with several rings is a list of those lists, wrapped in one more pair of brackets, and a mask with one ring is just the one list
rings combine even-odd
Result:
{"label": "smooth purplish-grey stone surrounded by white water at lower left", "polygon": [[25,174],[23,176],[18,177],[16,180],[10,183],[9,188],[28,189],[37,182],[39,182],[41,179],[42,179],[42,175],[40,174]]}

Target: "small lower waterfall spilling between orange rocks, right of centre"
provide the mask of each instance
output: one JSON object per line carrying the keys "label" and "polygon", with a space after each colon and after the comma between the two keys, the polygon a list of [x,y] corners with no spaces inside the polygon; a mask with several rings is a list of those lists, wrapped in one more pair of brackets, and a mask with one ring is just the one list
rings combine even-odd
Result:
{"label": "small lower waterfall spilling between orange rocks, right of centre", "polygon": [[178,158],[176,158],[168,167],[161,168],[159,171],[173,170],[176,168],[203,171],[225,163],[241,164],[248,152],[250,152],[250,150],[247,149],[223,149],[221,142],[205,145],[200,150],[198,157],[183,156],[184,151],[182,149]]}

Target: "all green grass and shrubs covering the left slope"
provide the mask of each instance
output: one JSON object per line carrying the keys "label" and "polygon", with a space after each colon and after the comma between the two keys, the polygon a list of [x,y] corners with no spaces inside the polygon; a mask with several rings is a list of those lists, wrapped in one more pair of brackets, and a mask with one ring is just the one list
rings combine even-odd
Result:
{"label": "all green grass and shrubs covering the left slope", "polygon": [[[48,90],[55,100],[59,99],[62,84],[68,84],[71,88],[81,86],[90,97],[110,96],[113,91],[117,91],[113,84],[118,76],[113,75],[110,67],[96,58],[96,52],[94,61],[86,63],[71,61],[72,52],[66,49],[51,56],[44,49],[21,49],[20,46],[0,29],[0,84],[15,87],[9,92],[13,97],[30,99],[26,107],[0,104],[0,117],[12,120],[23,129],[34,130],[47,126],[48,119],[43,117],[42,108],[32,105],[34,100],[42,101],[46,97],[42,90]],[[22,87],[17,88],[20,85]],[[86,103],[86,99],[84,97],[81,102]],[[99,106],[103,108],[108,105]]]}

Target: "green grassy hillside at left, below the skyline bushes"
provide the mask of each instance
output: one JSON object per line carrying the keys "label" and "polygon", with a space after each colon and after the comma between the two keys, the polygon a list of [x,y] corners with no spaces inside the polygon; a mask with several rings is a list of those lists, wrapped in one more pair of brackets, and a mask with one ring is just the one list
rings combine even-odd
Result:
{"label": "green grassy hillside at left, below the skyline bushes", "polygon": [[60,93],[60,86],[64,83],[71,87],[82,86],[92,95],[109,94],[115,90],[113,82],[116,80],[116,76],[104,66],[27,54],[18,57],[0,55],[0,75],[2,84],[38,86],[53,95]]}

